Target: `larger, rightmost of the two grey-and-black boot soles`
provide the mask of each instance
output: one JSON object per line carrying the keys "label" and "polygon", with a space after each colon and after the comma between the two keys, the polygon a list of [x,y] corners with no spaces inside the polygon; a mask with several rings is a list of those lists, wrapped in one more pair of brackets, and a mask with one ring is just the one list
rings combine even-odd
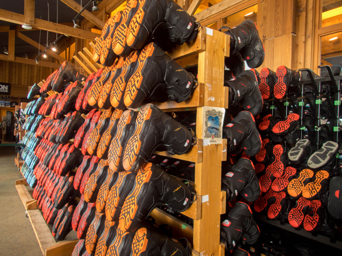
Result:
{"label": "larger, rightmost of the two grey-and-black boot soles", "polygon": [[323,146],[313,153],[307,160],[307,166],[318,169],[326,165],[338,151],[339,145],[333,141],[327,141]]}

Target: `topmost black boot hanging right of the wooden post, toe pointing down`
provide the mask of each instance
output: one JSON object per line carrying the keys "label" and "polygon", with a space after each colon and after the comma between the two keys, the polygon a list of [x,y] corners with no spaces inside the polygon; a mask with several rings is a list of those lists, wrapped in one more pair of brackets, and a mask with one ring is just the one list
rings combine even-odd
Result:
{"label": "topmost black boot hanging right of the wooden post, toe pointing down", "polygon": [[255,22],[246,19],[236,27],[222,28],[227,28],[225,33],[231,35],[230,53],[235,55],[239,52],[250,68],[260,67],[264,62],[265,51]]}

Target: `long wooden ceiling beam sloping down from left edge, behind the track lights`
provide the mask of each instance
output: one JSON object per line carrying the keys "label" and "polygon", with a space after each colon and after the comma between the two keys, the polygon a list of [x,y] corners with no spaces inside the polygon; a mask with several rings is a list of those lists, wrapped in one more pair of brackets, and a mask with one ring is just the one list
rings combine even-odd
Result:
{"label": "long wooden ceiling beam sloping down from left edge, behind the track lights", "polygon": [[[23,14],[15,13],[0,9],[0,20],[12,22],[23,25],[25,23],[25,16]],[[32,28],[38,28],[42,30],[51,31],[59,34],[70,35],[71,37],[77,37],[81,39],[87,39],[94,41],[95,37],[100,37],[99,34],[90,31],[65,26],[62,24],[48,22],[47,20],[35,18],[35,24],[31,24]]]}

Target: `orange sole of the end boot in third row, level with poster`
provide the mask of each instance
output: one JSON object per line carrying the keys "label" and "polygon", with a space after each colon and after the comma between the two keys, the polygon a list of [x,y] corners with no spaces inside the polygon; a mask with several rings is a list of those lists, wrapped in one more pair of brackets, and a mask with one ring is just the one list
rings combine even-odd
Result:
{"label": "orange sole of the end boot in third row, level with poster", "polygon": [[[150,123],[149,121],[152,117],[152,106],[153,105],[150,104],[143,106],[136,117],[133,135],[128,139],[124,150],[122,166],[126,171],[138,171],[137,159],[140,156],[140,151],[144,143],[142,137],[146,135]],[[143,134],[143,136],[141,136],[141,134]]]}

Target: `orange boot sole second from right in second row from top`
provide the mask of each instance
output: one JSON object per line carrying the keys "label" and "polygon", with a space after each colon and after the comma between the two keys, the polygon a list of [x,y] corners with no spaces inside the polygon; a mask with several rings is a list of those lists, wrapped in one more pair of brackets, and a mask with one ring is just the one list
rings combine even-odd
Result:
{"label": "orange boot sole second from right in second row from top", "polygon": [[139,53],[137,51],[134,51],[123,62],[121,74],[114,82],[110,93],[110,103],[114,108],[126,108],[123,103],[124,94],[126,91],[127,83],[129,83],[130,77],[132,75],[132,72],[134,71],[139,56]]}

